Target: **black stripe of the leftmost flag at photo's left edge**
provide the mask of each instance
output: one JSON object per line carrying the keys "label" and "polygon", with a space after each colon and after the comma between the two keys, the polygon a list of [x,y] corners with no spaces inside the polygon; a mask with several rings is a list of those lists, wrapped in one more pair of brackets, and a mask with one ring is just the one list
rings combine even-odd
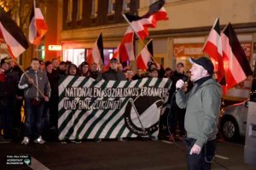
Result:
{"label": "black stripe of the leftmost flag at photo's left edge", "polygon": [[26,40],[25,35],[20,30],[20,27],[16,25],[15,21],[12,20],[8,14],[6,14],[3,10],[0,10],[0,22],[2,23],[3,27],[6,31],[9,32],[9,34],[15,38],[17,42],[20,43],[20,45],[23,48],[28,48],[28,42]]}

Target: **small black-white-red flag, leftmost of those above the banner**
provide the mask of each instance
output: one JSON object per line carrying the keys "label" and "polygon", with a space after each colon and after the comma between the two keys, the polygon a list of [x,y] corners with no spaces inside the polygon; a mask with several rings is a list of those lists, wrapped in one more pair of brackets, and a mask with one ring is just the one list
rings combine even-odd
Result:
{"label": "small black-white-red flag, leftmost of those above the banner", "polygon": [[92,65],[93,63],[96,63],[97,65],[104,64],[102,33],[97,38],[93,48],[91,48],[91,51],[87,56],[87,62],[89,65]]}

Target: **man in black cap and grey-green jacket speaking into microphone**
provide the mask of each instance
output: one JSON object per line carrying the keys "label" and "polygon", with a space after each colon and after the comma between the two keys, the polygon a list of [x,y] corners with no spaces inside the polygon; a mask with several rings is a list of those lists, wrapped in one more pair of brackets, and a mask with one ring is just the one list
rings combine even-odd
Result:
{"label": "man in black cap and grey-green jacket speaking into microphone", "polygon": [[[177,90],[176,102],[180,108],[186,108],[185,129],[187,137],[188,169],[211,169],[216,150],[218,133],[218,111],[220,109],[222,89],[212,79],[213,64],[207,57],[189,59],[192,63],[190,80],[194,87],[188,94]],[[182,79],[176,88],[183,88]]]}

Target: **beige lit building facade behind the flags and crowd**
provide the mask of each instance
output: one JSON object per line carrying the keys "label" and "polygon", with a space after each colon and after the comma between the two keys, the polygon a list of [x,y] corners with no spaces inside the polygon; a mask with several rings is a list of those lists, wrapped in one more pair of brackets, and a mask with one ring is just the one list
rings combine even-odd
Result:
{"label": "beige lit building facade behind the flags and crowd", "polygon": [[[121,41],[128,24],[122,13],[143,15],[154,0],[59,0],[61,18],[62,59],[79,62],[84,59],[99,33],[103,35],[104,54],[111,57]],[[247,59],[254,70],[256,57],[256,2],[254,0],[166,0],[169,20],[160,21],[156,28],[149,29],[153,39],[154,59],[165,67],[175,69],[183,62],[189,69],[189,57],[203,55],[201,48],[207,40],[212,24],[217,17],[222,28],[229,22],[234,26]],[[58,21],[58,22],[59,22]],[[136,43],[136,53],[143,48]],[[80,60],[75,61],[78,57]],[[106,57],[105,56],[105,57]],[[247,98],[244,89],[250,88],[243,82],[240,89],[230,95]],[[238,88],[237,88],[238,89]]]}

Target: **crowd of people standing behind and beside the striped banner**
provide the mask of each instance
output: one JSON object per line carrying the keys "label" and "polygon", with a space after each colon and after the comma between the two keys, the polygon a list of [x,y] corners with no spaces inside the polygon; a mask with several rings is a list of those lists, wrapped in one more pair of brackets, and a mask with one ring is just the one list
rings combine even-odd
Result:
{"label": "crowd of people standing behind and beside the striped banner", "polygon": [[[118,59],[111,59],[109,68],[87,62],[79,66],[70,61],[52,59],[45,61],[32,59],[31,65],[23,71],[14,59],[1,59],[0,67],[0,139],[20,139],[21,144],[44,144],[44,132],[57,132],[58,122],[58,80],[62,76],[91,77],[97,81],[132,81],[143,77],[171,78],[172,88],[165,113],[160,118],[160,138],[183,139],[185,109],[180,109],[175,101],[175,84],[184,75],[189,77],[183,63],[176,65],[176,70],[164,69],[157,63],[149,62],[148,71],[137,68],[134,74],[129,66],[123,66]],[[183,90],[187,93],[193,87],[186,83]],[[171,104],[171,98],[172,104]],[[24,102],[25,101],[25,102]],[[25,109],[25,120],[21,120],[21,108]],[[47,135],[47,134],[46,134]],[[57,133],[56,133],[57,135]]]}

